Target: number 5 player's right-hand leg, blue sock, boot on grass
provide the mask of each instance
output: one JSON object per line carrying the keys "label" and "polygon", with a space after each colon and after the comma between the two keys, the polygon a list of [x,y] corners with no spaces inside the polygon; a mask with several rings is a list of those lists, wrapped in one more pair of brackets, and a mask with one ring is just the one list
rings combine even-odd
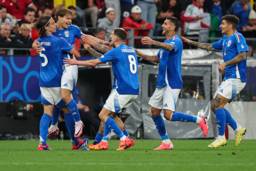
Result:
{"label": "number 5 player's right-hand leg, blue sock, boot on grass", "polygon": [[69,131],[70,139],[72,142],[72,150],[79,150],[87,146],[89,140],[84,139],[84,140],[79,140],[79,138],[74,137],[74,132],[75,132],[75,121],[73,119],[72,114],[70,113],[69,108],[67,106],[62,107],[64,117],[65,117],[65,124],[67,131]]}

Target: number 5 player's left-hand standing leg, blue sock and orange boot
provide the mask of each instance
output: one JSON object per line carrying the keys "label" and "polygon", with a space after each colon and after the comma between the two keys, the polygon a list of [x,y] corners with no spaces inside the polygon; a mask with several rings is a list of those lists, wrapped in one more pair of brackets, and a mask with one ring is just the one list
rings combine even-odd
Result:
{"label": "number 5 player's left-hand standing leg, blue sock and orange boot", "polygon": [[53,116],[53,109],[55,105],[44,105],[44,114],[41,117],[40,120],[40,143],[38,146],[38,150],[52,150],[47,145],[47,134],[48,134],[48,127],[50,124],[50,121]]}

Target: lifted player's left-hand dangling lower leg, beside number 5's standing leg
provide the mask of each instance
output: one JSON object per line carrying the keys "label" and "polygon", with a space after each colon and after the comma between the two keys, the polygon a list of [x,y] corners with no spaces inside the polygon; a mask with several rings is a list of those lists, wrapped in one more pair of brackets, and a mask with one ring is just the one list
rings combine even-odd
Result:
{"label": "lifted player's left-hand dangling lower leg, beside number 5's standing leg", "polygon": [[61,114],[61,108],[55,106],[53,110],[52,123],[50,124],[50,127],[48,129],[48,136],[57,135],[59,133],[58,118],[60,114]]}

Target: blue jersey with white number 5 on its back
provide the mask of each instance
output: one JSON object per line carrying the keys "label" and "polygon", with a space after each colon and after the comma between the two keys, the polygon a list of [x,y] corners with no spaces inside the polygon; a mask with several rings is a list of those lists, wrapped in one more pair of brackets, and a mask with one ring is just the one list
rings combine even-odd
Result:
{"label": "blue jersey with white number 5 on its back", "polygon": [[63,55],[69,53],[73,48],[65,39],[47,35],[38,38],[42,52],[38,54],[40,62],[39,86],[61,87],[61,76],[63,73]]}

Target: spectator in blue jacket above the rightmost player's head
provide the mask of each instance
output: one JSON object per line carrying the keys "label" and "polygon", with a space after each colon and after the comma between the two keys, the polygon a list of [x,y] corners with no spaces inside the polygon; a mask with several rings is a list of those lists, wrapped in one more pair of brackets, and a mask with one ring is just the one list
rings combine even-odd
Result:
{"label": "spectator in blue jacket above the rightmost player's head", "polygon": [[239,24],[237,30],[246,31],[246,25],[249,21],[249,13],[251,11],[251,6],[249,0],[241,0],[240,2],[235,2],[232,6],[232,14],[239,18]]}

